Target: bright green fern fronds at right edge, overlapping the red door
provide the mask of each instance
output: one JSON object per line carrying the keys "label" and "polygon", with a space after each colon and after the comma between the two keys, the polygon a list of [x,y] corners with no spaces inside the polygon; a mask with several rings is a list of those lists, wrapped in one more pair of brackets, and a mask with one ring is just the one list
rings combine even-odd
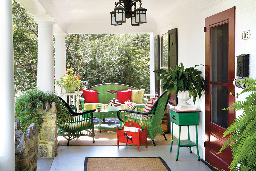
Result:
{"label": "bright green fern fronds at right edge, overlapping the red door", "polygon": [[[229,168],[231,171],[256,170],[256,79],[238,80],[246,85],[240,94],[252,92],[245,101],[237,101],[227,109],[243,110],[241,116],[225,131],[223,137],[230,135],[218,153],[230,146],[233,151],[233,161]],[[239,95],[240,95],[239,94]],[[227,110],[223,109],[223,110]],[[217,154],[218,154],[217,153]]]}

